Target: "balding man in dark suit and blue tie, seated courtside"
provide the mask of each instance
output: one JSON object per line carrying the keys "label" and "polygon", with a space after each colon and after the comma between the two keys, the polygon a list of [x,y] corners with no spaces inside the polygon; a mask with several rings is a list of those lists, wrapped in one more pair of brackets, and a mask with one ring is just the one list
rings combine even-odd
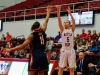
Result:
{"label": "balding man in dark suit and blue tie, seated courtside", "polygon": [[91,60],[85,56],[83,52],[79,53],[79,60],[76,63],[76,73],[77,75],[88,75],[89,74],[89,63]]}

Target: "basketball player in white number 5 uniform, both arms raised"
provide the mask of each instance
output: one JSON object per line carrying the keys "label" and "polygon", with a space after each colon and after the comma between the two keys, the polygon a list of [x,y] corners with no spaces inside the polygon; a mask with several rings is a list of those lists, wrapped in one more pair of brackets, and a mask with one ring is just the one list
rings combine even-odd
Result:
{"label": "basketball player in white number 5 uniform, both arms raised", "polygon": [[75,67],[75,50],[73,49],[73,33],[76,27],[75,20],[71,14],[71,9],[68,6],[68,14],[70,14],[72,19],[72,28],[70,28],[70,21],[65,20],[63,25],[60,18],[60,6],[56,6],[57,8],[57,16],[58,16],[58,25],[60,28],[61,35],[61,41],[62,41],[62,48],[61,48],[61,54],[60,54],[60,60],[59,60],[59,72],[58,75],[63,75],[63,69],[67,66],[70,70],[70,75],[74,75],[74,67]]}

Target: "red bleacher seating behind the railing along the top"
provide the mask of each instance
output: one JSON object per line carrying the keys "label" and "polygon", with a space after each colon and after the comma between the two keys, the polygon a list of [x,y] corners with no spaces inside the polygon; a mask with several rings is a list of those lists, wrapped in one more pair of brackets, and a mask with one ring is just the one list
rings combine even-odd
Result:
{"label": "red bleacher seating behind the railing along the top", "polygon": [[[58,0],[58,1],[57,0],[36,0],[36,1],[26,0],[24,2],[16,4],[14,6],[5,8],[4,10],[1,10],[0,12],[7,12],[7,13],[6,13],[6,15],[5,15],[5,13],[0,13],[0,18],[4,19],[5,16],[10,17],[10,18],[14,18],[13,16],[16,16],[16,18],[23,18],[24,16],[25,17],[29,17],[29,16],[34,17],[35,9],[32,9],[32,8],[45,7],[48,5],[52,5],[52,6],[63,5],[63,4],[77,3],[77,2],[82,2],[82,1],[83,0],[70,0],[70,1],[69,0],[68,1],[66,1],[66,0]],[[88,2],[77,5],[77,7],[76,7],[76,5],[77,4],[74,4],[74,9],[80,9],[81,11],[86,11],[88,9]],[[73,4],[70,4],[70,6],[73,8]],[[67,8],[67,6],[63,5],[61,7],[61,10],[65,11],[66,8]],[[90,10],[100,9],[100,1],[89,2],[89,9]],[[18,11],[18,10],[21,10],[21,11]],[[76,11],[80,11],[80,10],[74,10],[74,11],[76,12]],[[8,12],[8,11],[15,11],[15,12]],[[44,14],[46,14],[45,11],[46,11],[46,9],[39,8],[36,10],[36,15],[37,16],[44,15]],[[56,12],[56,9],[54,8],[52,14],[55,14],[55,12]],[[29,16],[27,16],[27,15],[29,15]]]}

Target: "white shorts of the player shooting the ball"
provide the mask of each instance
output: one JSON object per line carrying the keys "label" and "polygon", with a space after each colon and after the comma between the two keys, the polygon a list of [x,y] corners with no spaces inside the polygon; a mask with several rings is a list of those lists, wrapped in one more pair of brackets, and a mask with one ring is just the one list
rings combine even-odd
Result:
{"label": "white shorts of the player shooting the ball", "polygon": [[76,65],[76,54],[75,50],[60,50],[59,67],[64,68],[68,65],[69,68],[74,68]]}

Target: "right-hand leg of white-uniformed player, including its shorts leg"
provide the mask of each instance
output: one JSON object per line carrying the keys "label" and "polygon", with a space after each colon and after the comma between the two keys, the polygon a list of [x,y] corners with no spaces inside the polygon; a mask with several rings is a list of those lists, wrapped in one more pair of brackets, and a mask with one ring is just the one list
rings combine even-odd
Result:
{"label": "right-hand leg of white-uniformed player, including its shorts leg", "polygon": [[70,50],[68,55],[69,55],[68,64],[69,64],[70,75],[74,75],[74,68],[75,68],[75,63],[76,63],[75,50]]}

